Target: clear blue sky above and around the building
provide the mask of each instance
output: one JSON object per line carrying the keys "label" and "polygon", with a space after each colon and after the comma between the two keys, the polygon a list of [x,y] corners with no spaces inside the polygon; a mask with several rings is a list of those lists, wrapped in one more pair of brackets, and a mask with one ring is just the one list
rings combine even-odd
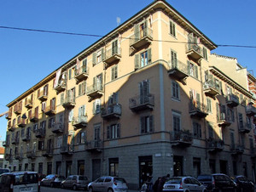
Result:
{"label": "clear blue sky above and around the building", "polygon": [[[0,26],[106,35],[153,0],[0,0]],[[166,0],[216,44],[256,46],[255,0]],[[0,28],[0,114],[6,104],[79,54],[98,37]],[[256,48],[218,47],[256,76]],[[7,121],[0,118],[0,140]]]}

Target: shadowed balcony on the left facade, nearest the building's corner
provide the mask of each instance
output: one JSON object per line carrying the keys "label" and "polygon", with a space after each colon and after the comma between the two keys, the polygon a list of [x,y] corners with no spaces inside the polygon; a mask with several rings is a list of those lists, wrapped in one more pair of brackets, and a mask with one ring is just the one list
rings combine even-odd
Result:
{"label": "shadowed balcony on the left facade, nearest the building's corner", "polygon": [[129,99],[129,108],[132,112],[154,110],[154,94],[136,96]]}

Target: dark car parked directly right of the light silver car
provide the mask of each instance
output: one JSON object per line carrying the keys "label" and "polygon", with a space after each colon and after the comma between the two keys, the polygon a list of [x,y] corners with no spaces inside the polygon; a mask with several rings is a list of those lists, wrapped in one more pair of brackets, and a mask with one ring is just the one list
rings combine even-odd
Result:
{"label": "dark car parked directly right of the light silver car", "polygon": [[197,179],[201,184],[207,186],[210,191],[236,191],[236,183],[223,173],[214,173],[211,175],[199,175]]}

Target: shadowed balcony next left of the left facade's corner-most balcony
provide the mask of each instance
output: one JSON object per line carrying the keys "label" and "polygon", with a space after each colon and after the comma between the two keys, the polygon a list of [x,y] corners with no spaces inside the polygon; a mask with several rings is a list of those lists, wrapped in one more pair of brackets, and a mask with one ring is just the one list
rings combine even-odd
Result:
{"label": "shadowed balcony next left of the left facade's corner-most balcony", "polygon": [[121,104],[111,104],[107,109],[102,110],[102,118],[105,120],[117,119],[122,114]]}

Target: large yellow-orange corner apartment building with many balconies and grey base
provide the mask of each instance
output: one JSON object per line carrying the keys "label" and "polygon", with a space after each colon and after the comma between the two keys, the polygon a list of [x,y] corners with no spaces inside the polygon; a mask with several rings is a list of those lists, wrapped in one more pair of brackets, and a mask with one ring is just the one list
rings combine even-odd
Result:
{"label": "large yellow-orange corner apartment building with many balconies and grey base", "polygon": [[130,189],[166,173],[255,178],[247,71],[215,48],[150,3],[7,104],[4,166],[118,175]]}

